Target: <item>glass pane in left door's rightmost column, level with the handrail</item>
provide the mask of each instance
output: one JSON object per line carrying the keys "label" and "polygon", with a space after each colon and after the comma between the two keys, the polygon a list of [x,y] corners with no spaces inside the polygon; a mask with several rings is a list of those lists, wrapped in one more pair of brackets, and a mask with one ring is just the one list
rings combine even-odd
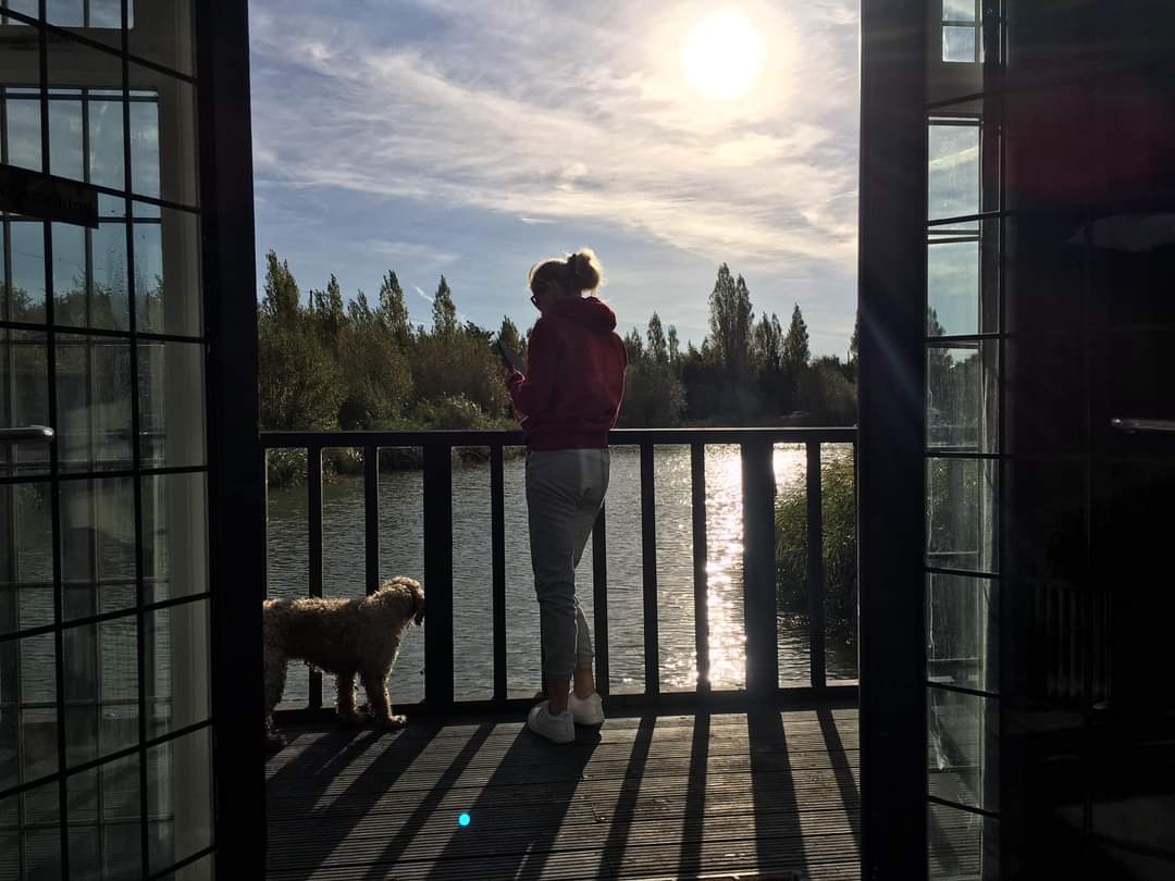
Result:
{"label": "glass pane in left door's rightmost column, level with the handrail", "polygon": [[145,465],[204,464],[203,401],[202,344],[139,343],[139,430]]}

